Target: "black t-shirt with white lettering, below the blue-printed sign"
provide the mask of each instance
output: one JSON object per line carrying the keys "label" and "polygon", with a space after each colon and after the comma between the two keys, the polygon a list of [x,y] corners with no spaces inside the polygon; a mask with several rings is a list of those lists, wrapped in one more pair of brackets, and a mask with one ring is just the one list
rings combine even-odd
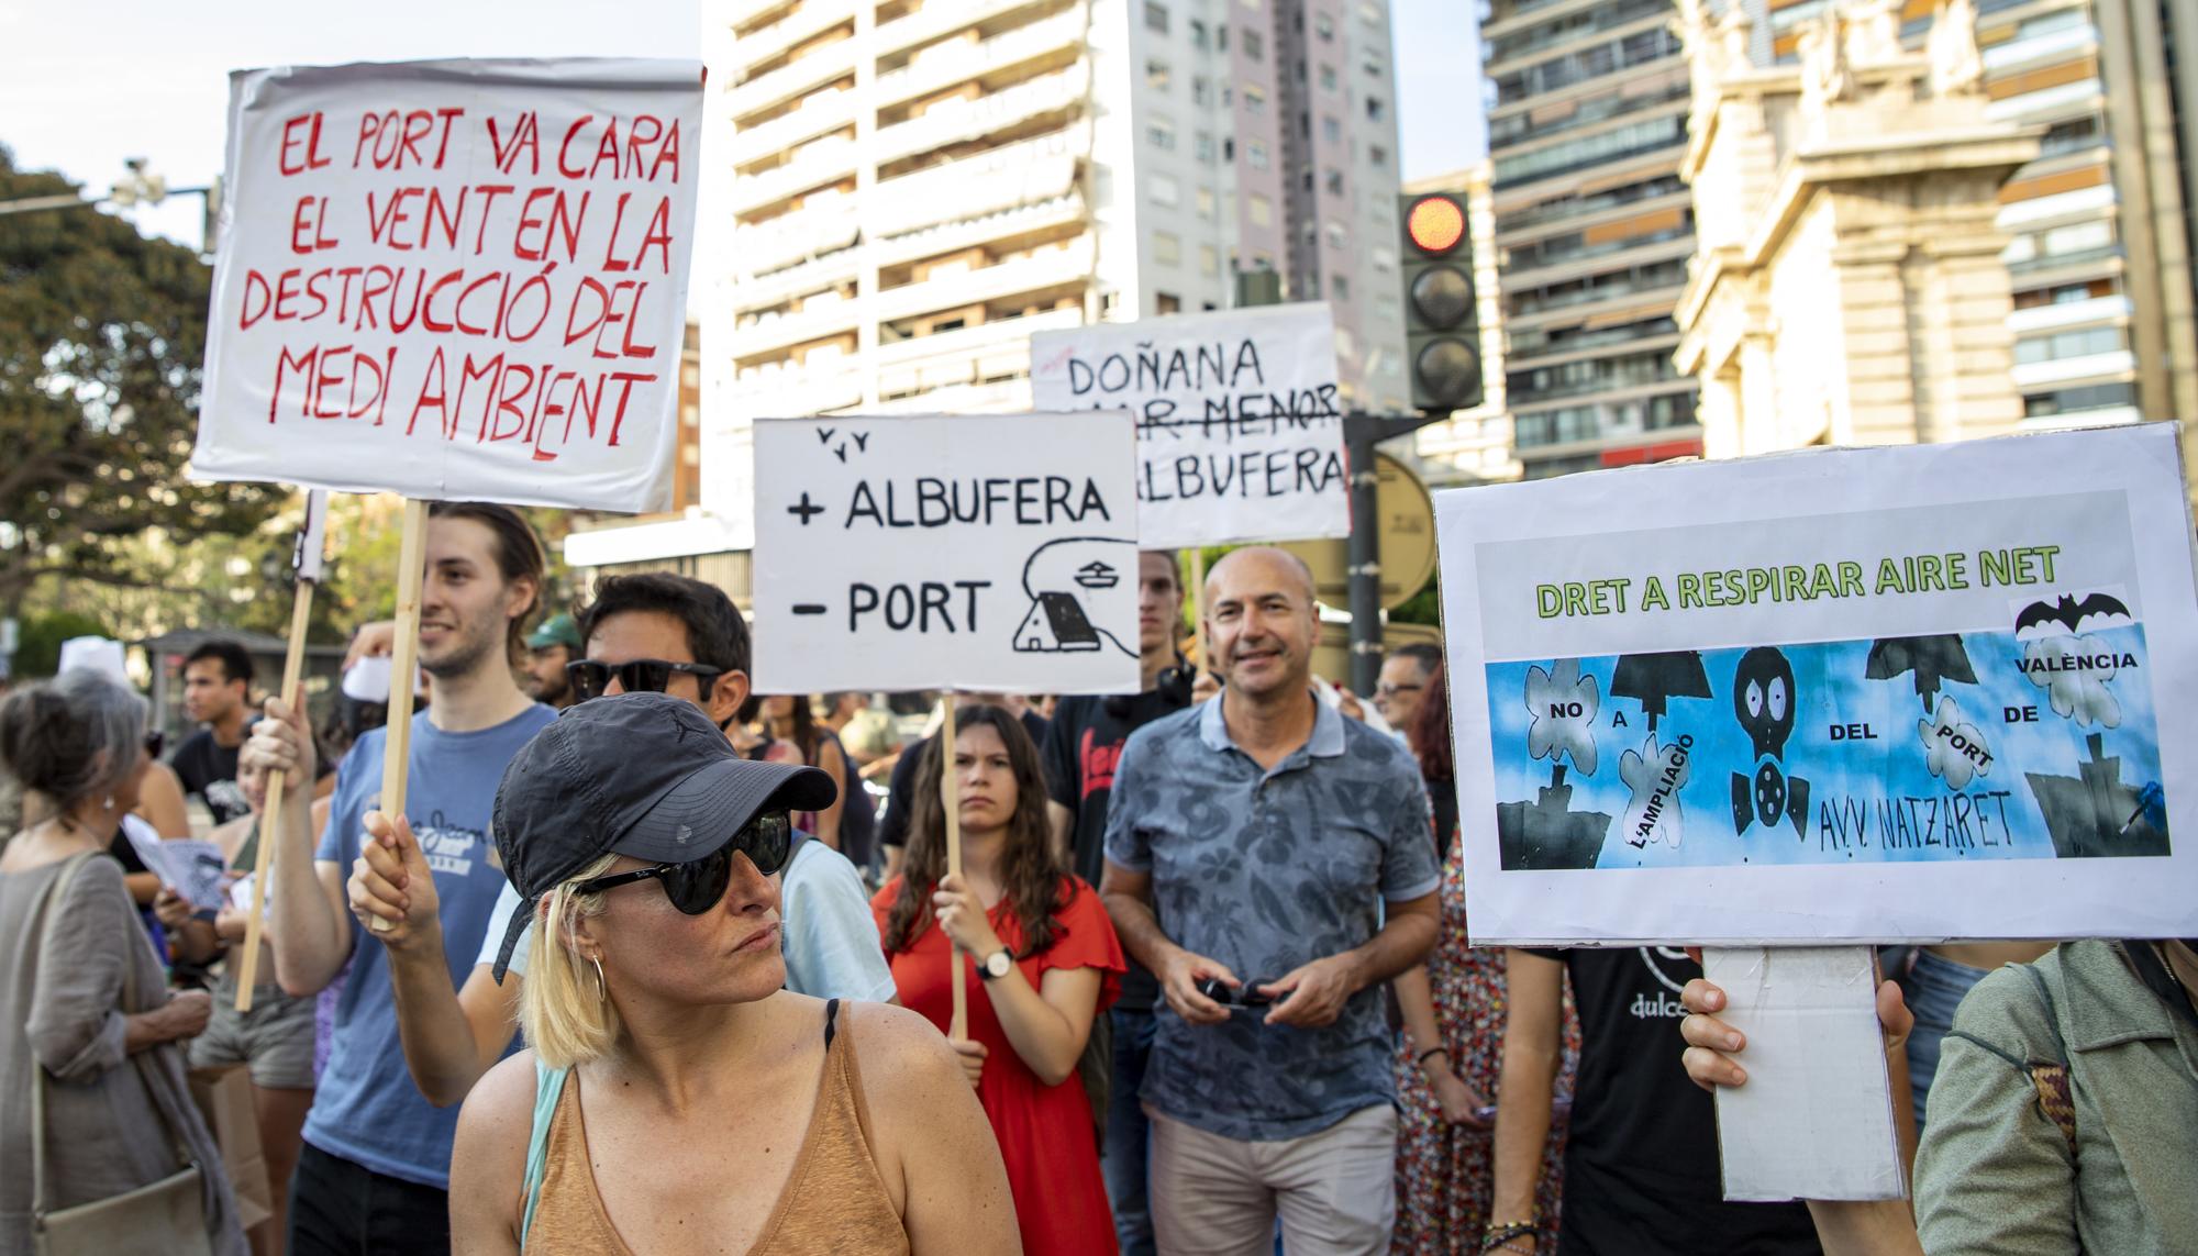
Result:
{"label": "black t-shirt with white lettering, below the blue-printed sign", "polygon": [[1679,1065],[1679,990],[1701,975],[1701,964],[1675,946],[1534,955],[1565,964],[1580,1008],[1558,1252],[1822,1252],[1805,1203],[1723,1199],[1714,1100]]}

